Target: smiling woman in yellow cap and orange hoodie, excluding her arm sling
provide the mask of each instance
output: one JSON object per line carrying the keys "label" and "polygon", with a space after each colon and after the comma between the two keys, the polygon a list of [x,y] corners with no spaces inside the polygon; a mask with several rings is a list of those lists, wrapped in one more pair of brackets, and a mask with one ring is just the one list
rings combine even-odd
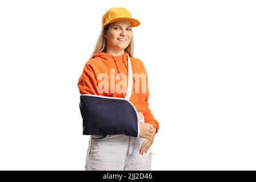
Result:
{"label": "smiling woman in yellow cap and orange hoodie, excluding her arm sling", "polygon": [[[80,94],[124,98],[126,93],[120,92],[118,88],[127,88],[127,81],[122,81],[127,80],[129,56],[133,70],[133,92],[130,101],[139,113],[139,137],[125,134],[90,135],[86,170],[151,170],[150,147],[158,132],[159,123],[148,107],[146,69],[141,60],[133,57],[133,27],[139,24],[140,22],[131,18],[130,12],[125,8],[109,9],[102,17],[102,31],[96,48],[86,62],[77,85]],[[102,84],[100,79],[102,75],[109,78],[105,84]],[[106,83],[114,83],[115,87]],[[120,87],[120,83],[124,84]]]}

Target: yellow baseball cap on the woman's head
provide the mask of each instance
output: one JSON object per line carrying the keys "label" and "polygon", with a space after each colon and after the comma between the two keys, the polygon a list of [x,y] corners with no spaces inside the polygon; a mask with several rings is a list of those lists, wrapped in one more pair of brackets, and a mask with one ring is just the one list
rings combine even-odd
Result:
{"label": "yellow baseball cap on the woman's head", "polygon": [[128,10],[126,10],[124,7],[113,7],[113,8],[110,8],[102,16],[102,29],[109,23],[112,23],[118,20],[127,20],[131,22],[131,25],[133,27],[137,27],[139,26],[139,24],[141,24],[139,20],[132,18],[131,13]]}

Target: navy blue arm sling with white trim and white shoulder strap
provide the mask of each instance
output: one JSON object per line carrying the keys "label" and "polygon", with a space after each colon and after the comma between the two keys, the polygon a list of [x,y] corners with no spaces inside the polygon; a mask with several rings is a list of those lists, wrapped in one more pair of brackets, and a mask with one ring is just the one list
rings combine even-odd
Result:
{"label": "navy blue arm sling with white trim and white shoulder strap", "polygon": [[125,134],[139,137],[139,117],[131,103],[133,71],[128,55],[128,86],[125,98],[93,94],[80,95],[83,135]]}

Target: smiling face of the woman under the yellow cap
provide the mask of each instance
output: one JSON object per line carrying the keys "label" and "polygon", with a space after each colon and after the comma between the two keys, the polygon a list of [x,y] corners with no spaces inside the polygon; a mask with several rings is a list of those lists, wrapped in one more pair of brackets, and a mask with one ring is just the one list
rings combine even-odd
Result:
{"label": "smiling face of the woman under the yellow cap", "polygon": [[107,47],[111,49],[125,49],[133,36],[131,22],[117,21],[109,24],[108,31],[104,32]]}

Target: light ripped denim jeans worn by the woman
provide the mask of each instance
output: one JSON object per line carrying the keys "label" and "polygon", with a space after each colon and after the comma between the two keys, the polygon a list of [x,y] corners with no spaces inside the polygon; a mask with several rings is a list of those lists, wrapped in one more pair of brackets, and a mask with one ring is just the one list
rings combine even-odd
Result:
{"label": "light ripped denim jeans worn by the woman", "polygon": [[[141,122],[144,122],[144,117]],[[90,135],[85,170],[151,170],[151,148],[143,155],[139,150],[145,138],[120,135]]]}

